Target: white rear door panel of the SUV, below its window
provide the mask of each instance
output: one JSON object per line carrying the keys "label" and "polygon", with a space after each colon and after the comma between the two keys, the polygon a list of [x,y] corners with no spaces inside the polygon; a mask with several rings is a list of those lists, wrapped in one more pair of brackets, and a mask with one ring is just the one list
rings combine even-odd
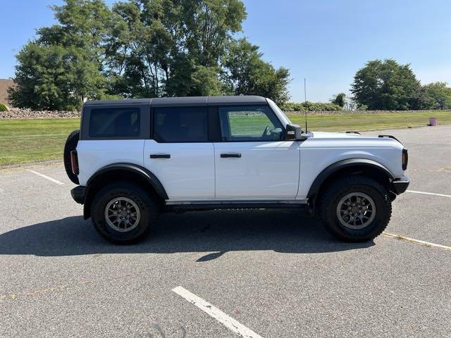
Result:
{"label": "white rear door panel of the SUV, below its window", "polygon": [[[170,154],[171,158],[150,158]],[[144,144],[144,167],[163,184],[169,200],[214,199],[214,147],[206,143]]]}

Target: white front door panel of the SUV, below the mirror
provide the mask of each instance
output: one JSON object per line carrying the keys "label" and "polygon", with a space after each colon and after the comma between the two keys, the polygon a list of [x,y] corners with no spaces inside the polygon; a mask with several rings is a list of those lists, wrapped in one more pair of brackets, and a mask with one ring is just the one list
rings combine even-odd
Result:
{"label": "white front door panel of the SUV, below the mirror", "polygon": [[[216,199],[295,199],[299,184],[297,142],[218,142]],[[241,154],[221,158],[221,154]]]}

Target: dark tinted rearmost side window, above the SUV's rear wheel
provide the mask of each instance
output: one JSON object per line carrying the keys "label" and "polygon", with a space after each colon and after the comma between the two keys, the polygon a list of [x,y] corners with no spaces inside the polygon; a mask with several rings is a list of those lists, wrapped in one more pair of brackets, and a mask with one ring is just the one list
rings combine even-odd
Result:
{"label": "dark tinted rearmost side window, above the SUV's rear wheel", "polygon": [[137,137],[140,135],[140,108],[92,109],[90,137]]}

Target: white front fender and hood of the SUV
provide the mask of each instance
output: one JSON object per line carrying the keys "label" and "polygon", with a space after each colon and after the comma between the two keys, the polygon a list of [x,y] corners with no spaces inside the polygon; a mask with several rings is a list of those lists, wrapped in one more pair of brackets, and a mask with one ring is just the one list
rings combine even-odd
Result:
{"label": "white front fender and hood of the SUV", "polygon": [[315,178],[329,165],[348,158],[366,158],[385,166],[395,178],[401,168],[402,144],[395,139],[355,134],[314,132],[300,143],[301,170],[297,199],[305,199]]}

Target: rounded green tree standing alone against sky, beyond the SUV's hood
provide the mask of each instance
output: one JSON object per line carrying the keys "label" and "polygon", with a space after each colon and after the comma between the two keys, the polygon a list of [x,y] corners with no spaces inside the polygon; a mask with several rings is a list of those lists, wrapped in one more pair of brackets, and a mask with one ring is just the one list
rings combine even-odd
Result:
{"label": "rounded green tree standing alone against sky, beyond the SUV's hood", "polygon": [[351,92],[358,104],[371,110],[407,110],[415,108],[419,87],[409,64],[387,59],[369,61],[358,70]]}

